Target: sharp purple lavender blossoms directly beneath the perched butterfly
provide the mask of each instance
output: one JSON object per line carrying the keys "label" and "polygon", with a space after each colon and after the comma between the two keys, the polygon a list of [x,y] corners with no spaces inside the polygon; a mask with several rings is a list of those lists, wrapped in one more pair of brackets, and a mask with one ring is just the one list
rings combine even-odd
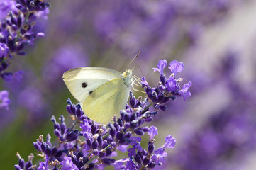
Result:
{"label": "sharp purple lavender blossoms directly beneath the perched butterfly", "polygon": [[[165,77],[163,74],[165,63],[165,60],[160,60],[158,64],[160,77]],[[172,74],[182,72],[179,67],[180,64],[182,63],[177,61],[170,64],[170,67],[174,68],[171,69]],[[172,75],[170,77],[175,79]],[[163,78],[160,79],[162,81]],[[165,163],[165,157],[167,157],[165,149],[173,148],[176,140],[172,135],[168,135],[165,137],[165,144],[155,148],[156,140],[154,137],[158,134],[157,128],[155,126],[149,128],[144,123],[152,121],[159,110],[167,110],[163,104],[171,101],[169,98],[190,96],[188,88],[167,90],[165,86],[170,86],[167,85],[168,80],[151,88],[143,77],[141,86],[145,89],[147,98],[143,99],[141,96],[135,98],[130,92],[129,104],[120,111],[118,117],[113,117],[113,123],[107,125],[101,125],[87,118],[80,104],[75,105],[68,99],[67,112],[74,121],[71,127],[67,128],[63,115],[60,117],[60,123],[52,116],[53,132],[57,137],[55,145],[50,142],[50,135],[47,135],[45,142],[43,135],[40,135],[38,140],[33,142],[35,149],[40,152],[38,155],[45,159],[44,162],[40,162],[38,169],[89,170],[114,166],[115,169],[135,170],[154,169],[157,166],[162,166]],[[191,82],[189,84],[191,86]],[[75,129],[77,125],[79,125],[79,129]],[[140,144],[142,140],[140,136],[147,133],[150,136],[148,148],[143,149]],[[113,157],[116,157],[118,152],[128,152],[128,155],[126,158],[116,160]],[[25,163],[21,157],[18,159],[19,163],[15,165],[15,168],[24,169],[25,164],[28,163]],[[30,163],[26,169],[35,169],[35,165]]]}

